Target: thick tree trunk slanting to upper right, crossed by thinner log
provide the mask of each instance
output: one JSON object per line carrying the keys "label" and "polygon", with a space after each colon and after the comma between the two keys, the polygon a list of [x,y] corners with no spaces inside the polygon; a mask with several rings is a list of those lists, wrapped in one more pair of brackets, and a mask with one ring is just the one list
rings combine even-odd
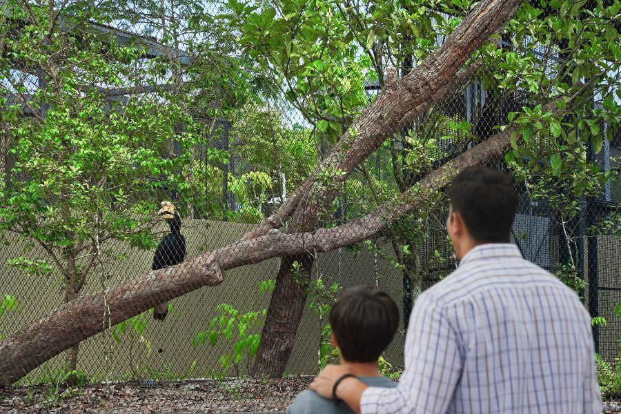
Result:
{"label": "thick tree trunk slanting to upper right, crossed by thinner log", "polygon": [[[386,137],[410,124],[431,104],[451,92],[455,83],[463,81],[462,76],[455,76],[457,71],[491,34],[502,28],[515,12],[517,3],[516,0],[482,1],[420,66],[400,80],[394,71],[387,75],[380,96],[344,133],[313,175],[274,215],[248,233],[245,239],[265,234],[270,228],[279,228],[292,215],[287,230],[289,233],[313,230],[319,213],[331,205],[339,184],[357,165],[371,155]],[[466,72],[471,75],[469,71]],[[326,186],[317,177],[320,172],[327,171],[328,166],[339,173],[331,180],[331,185]],[[261,344],[253,366],[255,376],[281,377],[293,349],[297,326],[306,302],[306,288],[293,287],[295,282],[290,269],[282,267],[289,262],[290,258],[284,259],[277,273],[276,285],[283,288],[275,289],[270,299]],[[310,267],[306,267],[306,278]]]}

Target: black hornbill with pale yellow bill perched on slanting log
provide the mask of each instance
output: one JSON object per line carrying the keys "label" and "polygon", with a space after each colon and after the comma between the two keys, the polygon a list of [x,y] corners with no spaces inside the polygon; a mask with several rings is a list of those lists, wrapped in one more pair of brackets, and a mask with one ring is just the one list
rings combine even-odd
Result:
{"label": "black hornbill with pale yellow bill perched on slanting log", "polygon": [[[186,257],[186,237],[181,234],[181,216],[175,206],[170,201],[162,201],[157,215],[168,221],[170,233],[157,245],[151,270],[175,266]],[[167,313],[168,302],[159,304],[153,308],[153,319],[163,321]]]}

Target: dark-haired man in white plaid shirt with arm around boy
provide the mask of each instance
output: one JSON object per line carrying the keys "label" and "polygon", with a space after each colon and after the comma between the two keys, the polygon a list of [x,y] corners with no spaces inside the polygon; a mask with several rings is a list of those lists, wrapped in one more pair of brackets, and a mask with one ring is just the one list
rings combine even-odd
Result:
{"label": "dark-haired man in white plaid shirt with arm around boy", "polygon": [[327,366],[311,389],[357,413],[601,413],[589,314],[509,244],[511,178],[468,168],[449,197],[460,266],[416,300],[399,386],[368,387]]}

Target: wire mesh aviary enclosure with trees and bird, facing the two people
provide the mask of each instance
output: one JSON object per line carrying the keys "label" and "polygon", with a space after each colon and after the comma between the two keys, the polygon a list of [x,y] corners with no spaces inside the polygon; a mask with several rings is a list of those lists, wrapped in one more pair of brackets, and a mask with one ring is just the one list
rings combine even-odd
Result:
{"label": "wire mesh aviary enclosure with trees and bird, facing the two people", "polygon": [[[331,304],[360,284],[400,308],[384,355],[397,371],[417,295],[458,266],[444,190],[469,163],[514,178],[511,243],[580,295],[616,363],[618,63],[602,52],[599,77],[580,72],[574,32],[524,29],[603,24],[588,10],[612,3],[524,2],[447,79],[424,62],[470,4],[31,3],[0,1],[4,385],[314,375],[337,359]],[[287,28],[296,10],[324,32]],[[347,26],[397,11],[418,34]],[[266,30],[293,40],[277,50]],[[616,29],[605,38],[618,47]],[[424,76],[414,115],[364,135],[373,110],[396,110],[395,85]]]}

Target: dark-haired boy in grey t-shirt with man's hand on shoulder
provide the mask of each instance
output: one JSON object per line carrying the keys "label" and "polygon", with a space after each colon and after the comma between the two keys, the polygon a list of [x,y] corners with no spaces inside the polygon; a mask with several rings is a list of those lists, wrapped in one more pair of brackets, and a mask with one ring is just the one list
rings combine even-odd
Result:
{"label": "dark-haired boy in grey t-shirt with man's hand on shoulder", "polygon": [[[345,290],[330,313],[332,344],[339,348],[347,376],[368,386],[394,388],[396,382],[377,371],[377,359],[391,343],[399,326],[399,310],[393,299],[377,288],[357,286]],[[349,414],[339,400],[326,400],[314,391],[299,393],[287,414]]]}

